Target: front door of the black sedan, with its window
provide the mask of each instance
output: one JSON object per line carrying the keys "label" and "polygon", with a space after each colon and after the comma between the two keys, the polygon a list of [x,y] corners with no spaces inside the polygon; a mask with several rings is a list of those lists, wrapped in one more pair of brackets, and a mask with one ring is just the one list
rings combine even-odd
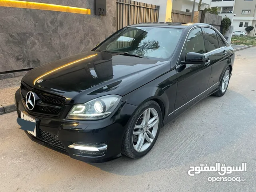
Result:
{"label": "front door of the black sedan, with its window", "polygon": [[190,104],[203,96],[211,74],[210,62],[207,62],[206,65],[182,64],[188,52],[206,53],[204,37],[200,27],[193,29],[188,35],[176,67],[178,87],[174,110],[181,109],[186,104]]}

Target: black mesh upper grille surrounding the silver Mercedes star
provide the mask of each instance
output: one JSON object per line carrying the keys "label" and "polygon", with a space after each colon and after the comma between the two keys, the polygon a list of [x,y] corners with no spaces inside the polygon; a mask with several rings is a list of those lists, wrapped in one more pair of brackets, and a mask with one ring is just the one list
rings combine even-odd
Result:
{"label": "black mesh upper grille surrounding the silver Mercedes star", "polygon": [[21,97],[24,103],[26,103],[26,95],[29,91],[34,92],[40,98],[40,105],[36,103],[34,109],[31,112],[58,116],[66,102],[65,98],[50,95],[39,90],[35,90],[22,82],[20,86]]}

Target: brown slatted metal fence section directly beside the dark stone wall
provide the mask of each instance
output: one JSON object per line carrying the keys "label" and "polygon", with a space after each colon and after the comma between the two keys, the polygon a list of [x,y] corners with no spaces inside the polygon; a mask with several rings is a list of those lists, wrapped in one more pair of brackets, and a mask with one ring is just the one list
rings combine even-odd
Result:
{"label": "brown slatted metal fence section directly beside the dark stone wall", "polygon": [[131,0],[116,0],[117,30],[136,23],[158,22],[159,6]]}

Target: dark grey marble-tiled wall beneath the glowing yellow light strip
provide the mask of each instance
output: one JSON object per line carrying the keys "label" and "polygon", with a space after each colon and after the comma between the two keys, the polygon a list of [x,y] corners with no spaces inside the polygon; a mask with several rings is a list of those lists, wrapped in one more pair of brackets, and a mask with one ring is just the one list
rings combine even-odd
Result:
{"label": "dark grey marble-tiled wall beneath the glowing yellow light strip", "polygon": [[31,1],[90,8],[91,15],[0,7],[0,72],[91,50],[116,31],[116,0],[106,0],[106,16],[94,15],[94,0]]}

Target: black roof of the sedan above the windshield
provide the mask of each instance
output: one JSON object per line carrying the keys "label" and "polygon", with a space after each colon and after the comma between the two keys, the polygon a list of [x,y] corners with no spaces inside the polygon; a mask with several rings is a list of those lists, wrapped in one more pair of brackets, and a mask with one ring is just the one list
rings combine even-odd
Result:
{"label": "black roof of the sedan above the windshield", "polygon": [[127,27],[168,27],[168,28],[180,28],[185,29],[192,26],[197,25],[204,25],[204,26],[211,26],[205,23],[173,23],[173,22],[154,22],[154,23],[139,23],[129,25]]}

